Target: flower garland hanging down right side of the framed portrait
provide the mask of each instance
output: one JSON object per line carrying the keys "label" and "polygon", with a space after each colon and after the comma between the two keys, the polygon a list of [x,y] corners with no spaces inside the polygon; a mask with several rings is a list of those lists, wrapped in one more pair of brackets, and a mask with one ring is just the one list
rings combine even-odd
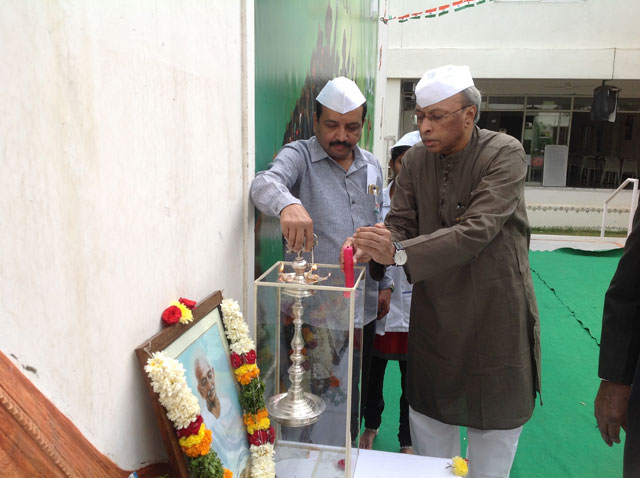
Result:
{"label": "flower garland hanging down right side of the framed portrait", "polygon": [[221,309],[225,333],[232,351],[231,365],[240,383],[240,404],[251,444],[251,478],[275,478],[275,430],[264,404],[264,382],[260,379],[260,369],[255,364],[256,346],[249,337],[249,327],[242,317],[238,303],[225,299]]}

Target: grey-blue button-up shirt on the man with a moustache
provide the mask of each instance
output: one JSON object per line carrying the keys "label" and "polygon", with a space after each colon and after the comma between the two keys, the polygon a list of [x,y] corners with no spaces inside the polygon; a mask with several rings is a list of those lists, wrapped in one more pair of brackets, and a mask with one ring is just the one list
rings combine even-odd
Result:
{"label": "grey-blue button-up shirt on the man with a moustache", "polygon": [[[375,178],[378,193],[367,192],[367,173]],[[382,168],[376,158],[356,146],[348,171],[331,159],[315,136],[282,147],[269,169],[251,184],[251,200],[264,214],[279,216],[290,204],[302,204],[318,236],[315,261],[338,264],[344,240],[361,226],[382,222]],[[291,257],[287,257],[290,260]],[[388,282],[388,284],[387,284]],[[381,288],[390,287],[390,280]],[[375,320],[378,283],[366,274],[365,320]]]}

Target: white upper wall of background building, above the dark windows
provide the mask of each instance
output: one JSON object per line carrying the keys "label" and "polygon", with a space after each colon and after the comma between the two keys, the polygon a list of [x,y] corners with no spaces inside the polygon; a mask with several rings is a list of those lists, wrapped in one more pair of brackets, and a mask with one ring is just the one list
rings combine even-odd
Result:
{"label": "white upper wall of background building, above the dark windows", "polygon": [[[392,2],[390,15],[444,1]],[[466,64],[475,78],[640,78],[637,0],[486,2],[434,19],[388,23],[388,75],[420,78]]]}

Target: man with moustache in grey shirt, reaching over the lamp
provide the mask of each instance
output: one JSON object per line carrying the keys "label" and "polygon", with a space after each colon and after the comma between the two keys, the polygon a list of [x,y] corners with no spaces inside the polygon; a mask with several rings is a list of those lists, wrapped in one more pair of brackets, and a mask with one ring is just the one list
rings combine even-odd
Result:
{"label": "man with moustache in grey shirt, reaching over the lamp", "polygon": [[[311,249],[314,259],[338,264],[340,249],[358,227],[381,220],[382,168],[357,143],[367,112],[366,100],[351,80],[327,83],[316,98],[315,136],[289,143],[270,168],[256,175],[251,200],[264,214],[280,216],[288,249]],[[287,260],[291,254],[287,254]],[[363,323],[362,394],[366,396],[370,351],[377,316],[389,310],[391,282],[380,284],[366,274]]]}

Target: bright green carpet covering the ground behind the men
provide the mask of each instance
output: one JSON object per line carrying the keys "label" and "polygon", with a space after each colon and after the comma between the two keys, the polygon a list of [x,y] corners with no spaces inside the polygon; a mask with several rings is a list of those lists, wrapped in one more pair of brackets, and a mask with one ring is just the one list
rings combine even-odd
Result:
{"label": "bright green carpet covering the ground behind the men", "polygon": [[[593,416],[604,294],[621,255],[621,250],[530,253],[540,309],[544,405],[537,403],[523,429],[511,478],[622,476],[622,446],[605,445]],[[396,363],[387,366],[384,397],[374,449],[398,451]]]}

